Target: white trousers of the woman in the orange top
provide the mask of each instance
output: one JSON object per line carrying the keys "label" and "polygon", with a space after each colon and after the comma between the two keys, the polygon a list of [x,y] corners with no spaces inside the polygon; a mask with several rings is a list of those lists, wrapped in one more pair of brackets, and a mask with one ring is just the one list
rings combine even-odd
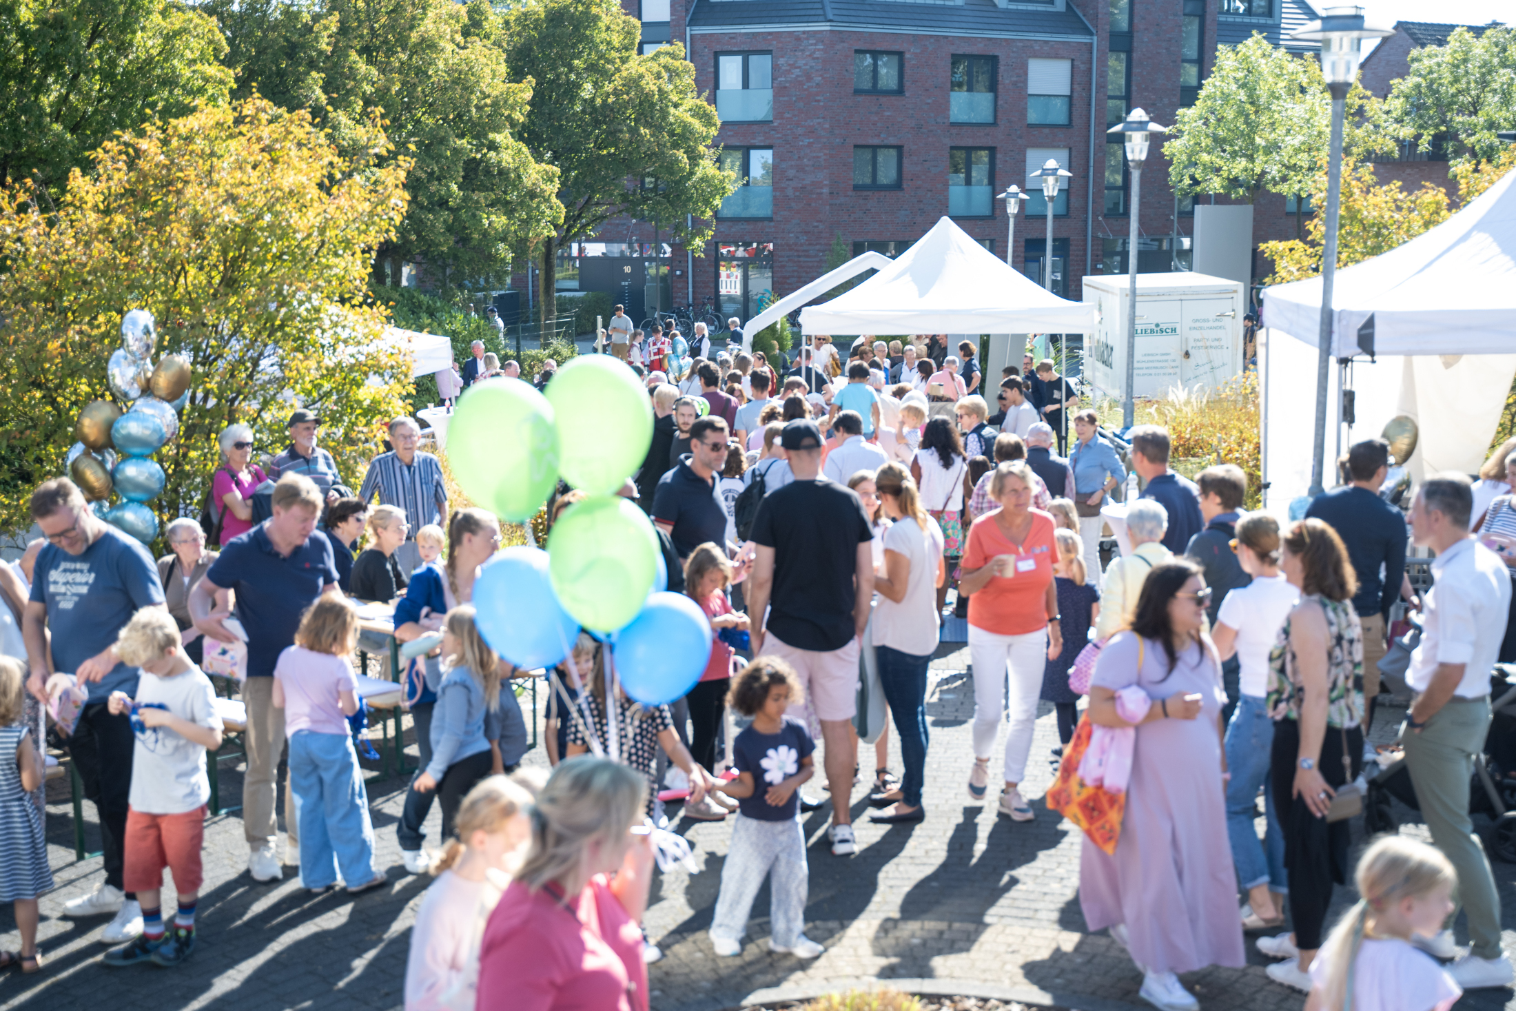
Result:
{"label": "white trousers of the woman in the orange top", "polygon": [[1010,671],[1010,732],[1005,737],[1005,781],[1026,778],[1026,756],[1032,750],[1037,700],[1048,664],[1048,631],[1025,635],[996,635],[969,626],[969,659],[973,664],[973,753],[987,758],[1001,729],[1007,708],[1005,685]]}

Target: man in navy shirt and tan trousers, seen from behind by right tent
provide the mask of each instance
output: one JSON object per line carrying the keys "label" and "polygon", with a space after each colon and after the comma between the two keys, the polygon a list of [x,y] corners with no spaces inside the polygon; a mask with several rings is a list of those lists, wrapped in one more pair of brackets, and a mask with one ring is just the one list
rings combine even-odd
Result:
{"label": "man in navy shirt and tan trousers, seen from behind by right tent", "polygon": [[1316,496],[1305,509],[1307,517],[1337,531],[1358,574],[1352,608],[1363,624],[1363,697],[1369,715],[1364,726],[1373,720],[1373,700],[1380,694],[1386,615],[1405,577],[1405,514],[1380,497],[1389,468],[1389,443],[1377,438],[1355,443],[1348,450],[1351,484]]}

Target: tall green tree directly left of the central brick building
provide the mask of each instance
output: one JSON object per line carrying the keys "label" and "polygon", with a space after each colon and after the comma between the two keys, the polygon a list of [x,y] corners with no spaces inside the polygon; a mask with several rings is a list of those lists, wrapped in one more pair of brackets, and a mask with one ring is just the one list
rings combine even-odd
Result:
{"label": "tall green tree directly left of the central brick building", "polygon": [[537,244],[544,323],[556,312],[559,249],[622,215],[699,246],[731,192],[711,149],[720,123],[694,89],[694,65],[678,42],[640,55],[640,36],[617,0],[528,0],[506,14],[511,79],[532,82],[517,136],[561,173],[562,223]]}

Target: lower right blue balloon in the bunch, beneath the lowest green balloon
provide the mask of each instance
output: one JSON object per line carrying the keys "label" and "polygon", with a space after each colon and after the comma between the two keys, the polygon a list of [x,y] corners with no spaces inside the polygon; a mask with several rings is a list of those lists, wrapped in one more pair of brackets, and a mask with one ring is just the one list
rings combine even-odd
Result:
{"label": "lower right blue balloon in the bunch, beneath the lowest green balloon", "polygon": [[[478,596],[478,591],[476,591]],[[711,658],[711,621],[682,593],[649,594],[641,614],[615,634],[615,673],[629,699],[667,705],[694,687]]]}

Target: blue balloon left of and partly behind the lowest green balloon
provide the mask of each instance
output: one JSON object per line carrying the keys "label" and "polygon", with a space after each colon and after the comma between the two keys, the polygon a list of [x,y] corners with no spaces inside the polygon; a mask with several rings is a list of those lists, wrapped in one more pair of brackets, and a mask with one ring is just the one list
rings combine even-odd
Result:
{"label": "blue balloon left of and partly behind the lowest green balloon", "polygon": [[508,547],[487,562],[475,581],[473,605],[479,635],[517,667],[552,667],[579,637],[579,623],[558,603],[540,547]]}

